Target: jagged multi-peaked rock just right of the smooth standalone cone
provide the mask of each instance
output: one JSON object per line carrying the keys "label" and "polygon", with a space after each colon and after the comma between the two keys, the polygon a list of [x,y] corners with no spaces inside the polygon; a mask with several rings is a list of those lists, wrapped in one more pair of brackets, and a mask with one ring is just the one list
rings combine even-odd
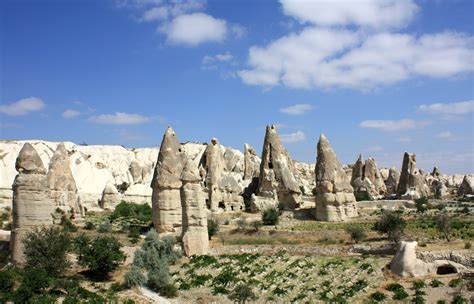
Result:
{"label": "jagged multi-peaked rock just right of the smooth standalone cone", "polygon": [[359,155],[359,158],[352,167],[351,185],[356,195],[368,196],[372,200],[383,197],[387,192],[375,159],[369,157],[364,162],[362,155]]}

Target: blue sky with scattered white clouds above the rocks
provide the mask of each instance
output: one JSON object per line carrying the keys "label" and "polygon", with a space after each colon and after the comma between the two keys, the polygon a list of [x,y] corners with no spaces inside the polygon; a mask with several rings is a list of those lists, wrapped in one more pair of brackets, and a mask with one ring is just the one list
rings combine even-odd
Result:
{"label": "blue sky with scattered white clouds above the rocks", "polygon": [[474,1],[2,0],[0,139],[474,172]]}

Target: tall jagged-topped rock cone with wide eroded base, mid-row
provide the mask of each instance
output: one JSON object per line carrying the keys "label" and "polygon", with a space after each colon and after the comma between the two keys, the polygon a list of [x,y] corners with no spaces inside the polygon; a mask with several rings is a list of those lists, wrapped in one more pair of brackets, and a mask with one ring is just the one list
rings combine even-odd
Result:
{"label": "tall jagged-topped rock cone with wide eroded base, mid-row", "polygon": [[276,192],[281,204],[286,208],[295,208],[299,205],[301,196],[297,175],[295,164],[281,144],[275,126],[267,126],[257,194],[275,197]]}

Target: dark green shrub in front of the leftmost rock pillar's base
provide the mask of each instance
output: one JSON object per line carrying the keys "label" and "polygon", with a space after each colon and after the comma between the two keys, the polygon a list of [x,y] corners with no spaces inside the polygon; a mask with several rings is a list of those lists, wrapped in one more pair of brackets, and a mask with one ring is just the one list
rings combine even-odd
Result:
{"label": "dark green shrub in front of the leftmost rock pillar's base", "polygon": [[42,269],[49,276],[64,275],[70,264],[67,253],[70,236],[58,227],[41,227],[27,233],[24,239],[25,266]]}

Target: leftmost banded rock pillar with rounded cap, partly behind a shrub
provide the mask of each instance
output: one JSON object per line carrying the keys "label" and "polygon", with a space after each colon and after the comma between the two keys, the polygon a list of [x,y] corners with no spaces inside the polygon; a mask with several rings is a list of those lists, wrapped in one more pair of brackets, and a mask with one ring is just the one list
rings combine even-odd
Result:
{"label": "leftmost banded rock pillar with rounded cap, partly behind a shrub", "polygon": [[46,169],[35,148],[25,143],[16,159],[18,175],[13,182],[11,259],[24,262],[22,239],[33,228],[52,225],[53,203],[49,198]]}

